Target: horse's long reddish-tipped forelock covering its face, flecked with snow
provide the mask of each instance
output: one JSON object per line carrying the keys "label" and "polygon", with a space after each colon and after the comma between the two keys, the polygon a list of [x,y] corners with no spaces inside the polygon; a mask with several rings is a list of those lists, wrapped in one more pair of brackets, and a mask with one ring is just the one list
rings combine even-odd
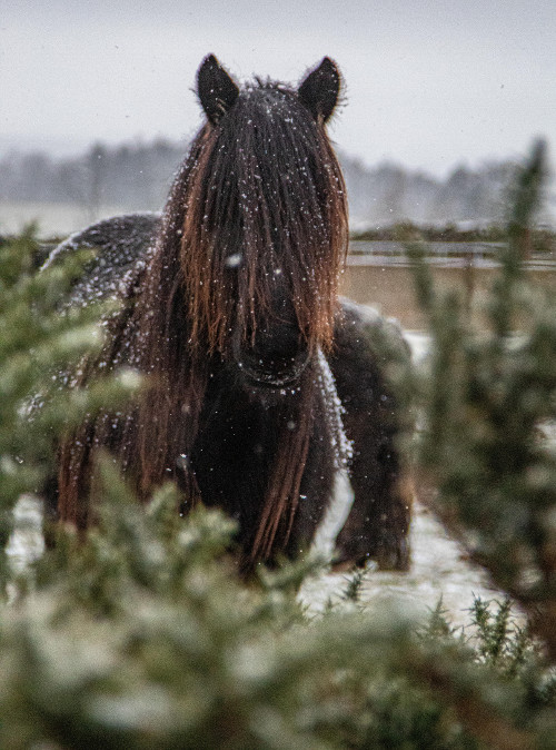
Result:
{"label": "horse's long reddish-tipped forelock covering its face, flecked with snow", "polygon": [[[169,204],[181,211],[190,343],[225,354],[288,297],[311,349],[330,346],[347,249],[341,171],[322,125],[286,87],[248,86],[191,148]],[[178,201],[173,206],[172,201]]]}

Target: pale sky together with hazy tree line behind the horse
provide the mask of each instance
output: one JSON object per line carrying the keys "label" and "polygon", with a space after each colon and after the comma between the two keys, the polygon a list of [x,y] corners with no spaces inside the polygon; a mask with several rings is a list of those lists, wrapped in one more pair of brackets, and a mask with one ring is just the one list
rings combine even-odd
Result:
{"label": "pale sky together with hazy tree line behind the horse", "polygon": [[337,60],[353,228],[499,223],[515,164],[556,142],[555,32],[553,0],[2,0],[0,233],[160,209],[202,121],[207,52],[239,81]]}

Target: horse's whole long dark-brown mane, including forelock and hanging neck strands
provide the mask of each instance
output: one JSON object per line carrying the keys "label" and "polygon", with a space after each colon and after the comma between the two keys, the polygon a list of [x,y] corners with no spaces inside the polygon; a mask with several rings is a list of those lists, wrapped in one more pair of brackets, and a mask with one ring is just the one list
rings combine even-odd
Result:
{"label": "horse's whole long dark-brown mane, including forelock and hanging neck strands", "polygon": [[[77,378],[130,366],[147,382],[121,413],[103,411],[63,441],[61,519],[81,529],[93,519],[83,499],[93,492],[99,448],[121,462],[142,500],[178,475],[177,457],[189,456],[197,437],[210,374],[231,359],[230,332],[249,345],[261,320],[272,322],[278,277],[309,353],[329,351],[346,250],[345,185],[322,118],[315,120],[294,89],[247,86],[195,138],[148,264],[131,279],[123,309],[107,322],[100,357]],[[284,406],[299,428],[280,420],[252,561],[268,557],[277,536],[282,545],[289,536],[312,428],[314,379],[309,366]],[[183,473],[180,486],[192,504],[195,476]]]}

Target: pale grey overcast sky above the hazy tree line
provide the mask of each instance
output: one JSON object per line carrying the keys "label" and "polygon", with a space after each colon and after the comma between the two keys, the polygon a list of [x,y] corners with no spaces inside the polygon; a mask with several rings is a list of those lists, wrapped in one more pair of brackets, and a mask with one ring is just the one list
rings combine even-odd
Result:
{"label": "pale grey overcast sky above the hazy tree line", "polygon": [[539,135],[556,149],[555,0],[0,0],[0,156],[189,137],[207,52],[241,80],[334,57],[331,135],[367,164],[443,175]]}

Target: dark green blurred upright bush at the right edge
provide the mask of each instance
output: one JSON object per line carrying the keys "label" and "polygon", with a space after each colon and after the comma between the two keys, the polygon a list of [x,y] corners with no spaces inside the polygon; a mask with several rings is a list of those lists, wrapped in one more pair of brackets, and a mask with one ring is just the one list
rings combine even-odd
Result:
{"label": "dark green blurred upright bush at the right edge", "polygon": [[471,557],[528,612],[556,660],[556,297],[523,259],[545,147],[515,189],[510,240],[475,329],[457,292],[433,289],[419,248],[418,289],[434,336],[421,461],[434,505]]}

